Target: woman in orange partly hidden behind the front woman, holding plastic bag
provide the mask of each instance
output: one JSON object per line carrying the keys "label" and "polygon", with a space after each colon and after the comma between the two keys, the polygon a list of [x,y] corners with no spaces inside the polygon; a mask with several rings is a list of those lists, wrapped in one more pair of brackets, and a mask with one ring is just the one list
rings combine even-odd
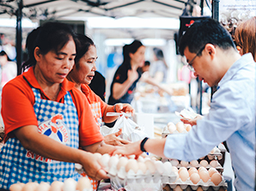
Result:
{"label": "woman in orange partly hidden behind the front woman, holding plastic bag", "polygon": [[[107,112],[130,112],[133,114],[134,110],[130,104],[108,105],[88,87],[94,79],[96,71],[95,62],[98,58],[97,51],[93,40],[86,35],[77,34],[77,41],[75,65],[73,69],[71,69],[67,79],[74,82],[76,84],[75,87],[88,98],[95,123],[98,125],[99,129],[101,128],[102,121],[113,122],[118,117],[106,116]],[[97,81],[98,87],[101,87],[101,83],[105,84],[105,81]],[[128,144],[130,141],[120,139],[118,137],[120,134],[122,134],[122,128],[115,134],[105,136],[104,142],[113,146]],[[97,184],[98,182],[93,182],[94,190],[97,189]]]}

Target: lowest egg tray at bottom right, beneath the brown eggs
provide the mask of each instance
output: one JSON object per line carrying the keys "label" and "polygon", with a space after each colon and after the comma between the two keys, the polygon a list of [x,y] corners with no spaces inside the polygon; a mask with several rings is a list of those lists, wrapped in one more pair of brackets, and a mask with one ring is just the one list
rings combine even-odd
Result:
{"label": "lowest egg tray at bottom right, beneath the brown eggs", "polygon": [[202,179],[197,184],[194,184],[191,180],[186,180],[186,182],[183,182],[180,178],[176,180],[175,182],[169,182],[167,183],[170,188],[175,188],[176,186],[180,186],[181,189],[186,189],[188,186],[192,188],[192,190],[197,190],[198,187],[202,187],[203,190],[208,190],[210,187],[213,188],[214,190],[219,190],[221,187],[222,188],[228,188],[227,182],[222,177],[222,182],[220,182],[218,185],[215,185],[213,182],[208,180],[207,182],[203,182]]}

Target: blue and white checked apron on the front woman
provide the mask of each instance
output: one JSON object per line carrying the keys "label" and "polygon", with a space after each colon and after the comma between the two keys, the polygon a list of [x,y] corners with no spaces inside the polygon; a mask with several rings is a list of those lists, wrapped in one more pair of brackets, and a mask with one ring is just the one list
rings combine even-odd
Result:
{"label": "blue and white checked apron on the front woman", "polygon": [[[46,134],[53,140],[78,149],[78,116],[70,92],[65,94],[62,104],[42,99],[38,89],[32,90],[35,97],[34,113],[40,134]],[[75,164],[44,158],[28,151],[16,138],[9,138],[2,148],[0,188],[9,188],[16,182],[64,182],[70,177],[76,181],[80,177],[75,171]]]}

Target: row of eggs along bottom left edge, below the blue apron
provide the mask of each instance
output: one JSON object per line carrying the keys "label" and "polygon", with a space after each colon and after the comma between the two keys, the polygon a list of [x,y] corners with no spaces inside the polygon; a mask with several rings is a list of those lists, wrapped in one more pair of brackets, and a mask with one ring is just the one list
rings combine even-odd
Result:
{"label": "row of eggs along bottom left edge, below the blue apron", "polygon": [[52,182],[51,185],[48,182],[15,183],[9,187],[9,191],[93,191],[93,188],[88,177],[81,177],[78,182],[68,178],[64,182]]}

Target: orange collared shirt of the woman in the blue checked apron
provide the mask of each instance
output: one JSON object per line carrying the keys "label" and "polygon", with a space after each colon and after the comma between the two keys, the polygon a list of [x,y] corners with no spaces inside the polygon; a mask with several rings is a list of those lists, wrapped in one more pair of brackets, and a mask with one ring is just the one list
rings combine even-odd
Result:
{"label": "orange collared shirt of the woman in the blue checked apron", "polygon": [[[25,125],[38,126],[33,108],[34,93],[30,86],[40,89],[41,98],[50,99],[36,80],[34,67],[22,75],[18,75],[3,87],[1,113],[5,128],[5,141],[8,140],[8,137],[14,136],[12,131],[16,128]],[[57,101],[64,103],[64,95],[67,91],[70,91],[78,114],[80,146],[92,145],[103,140],[103,136],[94,122],[94,116],[87,98],[75,88],[74,83],[64,79],[61,83]]]}

